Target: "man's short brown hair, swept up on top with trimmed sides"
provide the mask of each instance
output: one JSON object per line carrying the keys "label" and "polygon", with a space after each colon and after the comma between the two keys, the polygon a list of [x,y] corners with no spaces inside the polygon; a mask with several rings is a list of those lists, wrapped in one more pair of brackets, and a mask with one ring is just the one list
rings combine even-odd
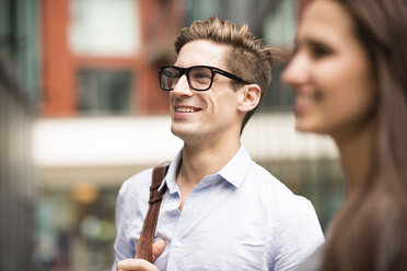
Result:
{"label": "man's short brown hair, swept up on top with trimmed sides", "polygon": [[[205,39],[230,47],[224,61],[230,71],[247,82],[260,86],[260,101],[271,82],[272,48],[266,47],[248,32],[247,24],[236,25],[226,20],[212,16],[205,21],[195,21],[189,27],[181,30],[175,40],[175,51],[179,52],[183,46],[191,40]],[[233,81],[233,90],[241,83]],[[258,105],[246,114],[242,130],[252,117]]]}

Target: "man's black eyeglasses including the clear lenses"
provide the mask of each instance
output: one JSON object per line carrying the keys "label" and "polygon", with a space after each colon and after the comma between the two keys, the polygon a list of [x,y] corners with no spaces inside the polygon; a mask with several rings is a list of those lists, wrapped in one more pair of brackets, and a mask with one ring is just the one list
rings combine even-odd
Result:
{"label": "man's black eyeglasses including the clear lenses", "polygon": [[189,68],[164,66],[160,68],[159,72],[160,86],[164,91],[174,90],[183,74],[186,74],[189,86],[198,92],[208,91],[212,86],[214,73],[233,79],[242,84],[251,84],[230,72],[210,66],[193,66]]}

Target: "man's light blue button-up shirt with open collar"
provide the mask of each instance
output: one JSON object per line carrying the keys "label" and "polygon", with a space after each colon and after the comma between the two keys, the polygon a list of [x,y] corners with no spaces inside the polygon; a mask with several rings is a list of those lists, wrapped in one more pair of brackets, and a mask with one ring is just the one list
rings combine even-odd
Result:
{"label": "man's light blue button-up shirt with open collar", "polygon": [[[160,270],[291,270],[324,241],[311,202],[253,162],[243,145],[219,173],[194,188],[181,212],[181,158],[182,152],[162,185],[167,191],[155,239],[164,239],[166,247],[154,262]],[[112,270],[135,257],[151,174],[151,168],[141,172],[121,186]]]}

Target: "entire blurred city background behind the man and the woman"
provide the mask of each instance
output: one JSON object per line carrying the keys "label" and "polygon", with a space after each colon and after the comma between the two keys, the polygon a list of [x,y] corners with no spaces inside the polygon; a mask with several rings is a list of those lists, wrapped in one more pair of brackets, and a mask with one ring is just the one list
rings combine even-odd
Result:
{"label": "entire blurred city background behind the man and the woman", "polygon": [[[218,15],[289,50],[307,2],[0,0],[0,270],[108,270],[121,182],[182,146],[158,82],[179,28]],[[284,66],[242,141],[325,231],[340,165],[329,139],[294,131]]]}

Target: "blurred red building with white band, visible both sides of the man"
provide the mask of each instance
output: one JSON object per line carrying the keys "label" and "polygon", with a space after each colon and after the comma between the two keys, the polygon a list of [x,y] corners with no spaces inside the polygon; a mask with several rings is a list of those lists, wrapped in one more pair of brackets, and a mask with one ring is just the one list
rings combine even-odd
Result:
{"label": "blurred red building with white band, visible both sides of the man", "polygon": [[[40,184],[36,269],[109,268],[121,182],[182,146],[158,83],[158,67],[175,59],[181,27],[218,15],[247,22],[267,44],[290,49],[307,2],[42,0],[42,103],[32,141]],[[337,153],[328,139],[294,131],[283,68],[276,63],[242,141],[256,162],[312,200],[325,227],[342,197]]]}

